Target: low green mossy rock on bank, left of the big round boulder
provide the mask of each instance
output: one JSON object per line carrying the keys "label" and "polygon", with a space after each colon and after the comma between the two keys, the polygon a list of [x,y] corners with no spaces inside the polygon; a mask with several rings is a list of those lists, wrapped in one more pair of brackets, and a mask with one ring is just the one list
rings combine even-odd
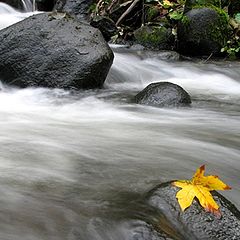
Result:
{"label": "low green mossy rock on bank, left of the big round boulder", "polygon": [[137,43],[150,49],[171,50],[174,36],[171,29],[163,26],[142,26],[134,32]]}

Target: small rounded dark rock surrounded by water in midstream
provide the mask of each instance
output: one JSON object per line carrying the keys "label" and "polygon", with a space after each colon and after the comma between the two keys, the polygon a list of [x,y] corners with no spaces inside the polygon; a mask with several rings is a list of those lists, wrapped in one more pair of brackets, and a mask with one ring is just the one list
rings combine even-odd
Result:
{"label": "small rounded dark rock surrounded by water in midstream", "polygon": [[191,104],[189,94],[182,87],[170,82],[151,83],[134,100],[138,104],[154,107],[182,107]]}

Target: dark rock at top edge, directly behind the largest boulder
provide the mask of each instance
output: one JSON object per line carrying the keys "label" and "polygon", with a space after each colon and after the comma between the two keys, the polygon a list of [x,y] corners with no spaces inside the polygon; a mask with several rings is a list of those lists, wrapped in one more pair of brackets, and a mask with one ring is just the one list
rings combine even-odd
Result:
{"label": "dark rock at top edge, directly behind the largest boulder", "polygon": [[75,15],[78,19],[85,19],[94,0],[56,0],[54,9]]}

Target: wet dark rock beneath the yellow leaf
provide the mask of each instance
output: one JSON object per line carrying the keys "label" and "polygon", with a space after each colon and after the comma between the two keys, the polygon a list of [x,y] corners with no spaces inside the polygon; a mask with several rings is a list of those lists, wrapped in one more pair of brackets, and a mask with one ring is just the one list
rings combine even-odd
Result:
{"label": "wet dark rock beneath the yellow leaf", "polygon": [[221,218],[205,212],[197,200],[182,212],[176,199],[179,190],[171,183],[164,183],[150,191],[147,196],[148,203],[155,207],[159,214],[160,230],[168,231],[173,239],[240,239],[240,212],[230,201],[221,194],[212,192],[220,206]]}

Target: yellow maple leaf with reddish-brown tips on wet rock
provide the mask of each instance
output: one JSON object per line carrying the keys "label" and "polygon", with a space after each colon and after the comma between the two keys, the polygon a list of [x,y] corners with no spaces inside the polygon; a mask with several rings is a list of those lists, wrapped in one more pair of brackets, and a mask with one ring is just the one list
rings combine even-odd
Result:
{"label": "yellow maple leaf with reddish-brown tips on wet rock", "polygon": [[201,206],[208,212],[212,212],[217,216],[221,216],[219,206],[213,199],[210,191],[212,190],[228,190],[231,189],[228,185],[222,182],[218,176],[204,176],[205,165],[197,169],[192,177],[192,180],[179,180],[172,184],[182,188],[177,192],[176,198],[184,211],[196,197]]}

